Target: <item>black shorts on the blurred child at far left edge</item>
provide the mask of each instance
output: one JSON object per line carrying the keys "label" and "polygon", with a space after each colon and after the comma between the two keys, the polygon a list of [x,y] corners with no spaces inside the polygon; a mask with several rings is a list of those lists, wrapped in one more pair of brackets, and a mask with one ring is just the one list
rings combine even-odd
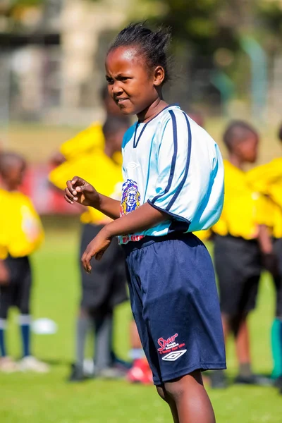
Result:
{"label": "black shorts on the blurred child at far left edge", "polygon": [[8,309],[18,307],[21,314],[30,314],[31,269],[28,257],[4,260],[11,274],[8,285],[0,286],[0,319],[6,319]]}

